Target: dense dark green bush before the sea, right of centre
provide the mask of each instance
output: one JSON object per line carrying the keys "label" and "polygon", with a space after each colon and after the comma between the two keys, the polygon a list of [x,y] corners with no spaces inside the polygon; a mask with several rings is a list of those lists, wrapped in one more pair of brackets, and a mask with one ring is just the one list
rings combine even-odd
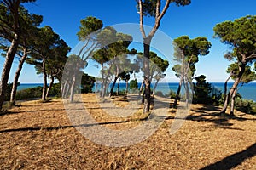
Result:
{"label": "dense dark green bush before the sea, right of centre", "polygon": [[212,88],[212,84],[206,82],[206,76],[204,75],[195,77],[195,80],[193,103],[218,105],[221,99],[221,92],[216,88]]}

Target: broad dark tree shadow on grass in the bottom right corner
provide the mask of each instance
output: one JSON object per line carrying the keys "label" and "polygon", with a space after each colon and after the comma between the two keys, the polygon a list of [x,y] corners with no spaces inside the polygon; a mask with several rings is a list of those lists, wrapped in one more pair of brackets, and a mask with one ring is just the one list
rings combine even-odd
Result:
{"label": "broad dark tree shadow on grass in the bottom right corner", "polygon": [[246,150],[242,150],[241,152],[227,156],[221,161],[217,161],[211,165],[208,165],[207,167],[201,168],[201,170],[231,169],[253,156],[256,156],[256,143],[249,146]]}

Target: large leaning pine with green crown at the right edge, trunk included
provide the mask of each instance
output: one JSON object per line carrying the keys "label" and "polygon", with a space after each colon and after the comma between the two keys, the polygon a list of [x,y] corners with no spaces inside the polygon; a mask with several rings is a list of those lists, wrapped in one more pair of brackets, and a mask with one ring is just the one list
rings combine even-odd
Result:
{"label": "large leaning pine with green crown at the right edge, trunk included", "polygon": [[216,25],[213,30],[214,37],[230,46],[231,51],[224,56],[234,60],[239,70],[220,111],[221,114],[225,114],[247,65],[252,64],[256,59],[256,16],[248,15],[234,21],[224,21]]}

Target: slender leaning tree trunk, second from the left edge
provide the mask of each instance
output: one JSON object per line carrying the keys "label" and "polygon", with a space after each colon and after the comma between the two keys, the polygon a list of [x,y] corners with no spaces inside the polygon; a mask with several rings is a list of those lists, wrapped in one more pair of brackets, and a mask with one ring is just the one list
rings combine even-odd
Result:
{"label": "slender leaning tree trunk, second from the left edge", "polygon": [[16,92],[17,92],[17,87],[18,87],[18,81],[19,81],[19,77],[20,77],[20,72],[22,70],[22,66],[26,60],[27,57],[27,48],[23,48],[23,56],[20,59],[18,68],[15,72],[15,78],[14,78],[14,82],[13,82],[13,87],[12,87],[12,91],[11,91],[11,95],[10,95],[10,103],[11,105],[16,105]]}

